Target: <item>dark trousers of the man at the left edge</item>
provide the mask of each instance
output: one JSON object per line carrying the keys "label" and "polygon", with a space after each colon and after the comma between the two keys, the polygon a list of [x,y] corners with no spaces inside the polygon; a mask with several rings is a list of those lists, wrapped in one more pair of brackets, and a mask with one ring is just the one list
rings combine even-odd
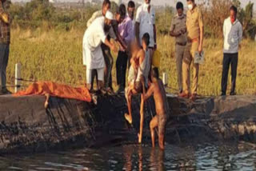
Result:
{"label": "dark trousers of the man at the left edge", "polygon": [[0,44],[0,89],[6,89],[6,68],[9,60],[9,44]]}

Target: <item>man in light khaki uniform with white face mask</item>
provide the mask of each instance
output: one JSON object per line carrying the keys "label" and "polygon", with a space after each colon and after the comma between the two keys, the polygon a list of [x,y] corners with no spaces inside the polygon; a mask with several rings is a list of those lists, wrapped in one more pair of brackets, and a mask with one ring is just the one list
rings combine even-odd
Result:
{"label": "man in light khaki uniform with white face mask", "polygon": [[192,78],[192,95],[190,99],[194,101],[198,91],[198,72],[199,64],[194,63],[195,53],[202,53],[203,42],[203,18],[202,12],[194,3],[194,0],[186,0],[188,4],[188,11],[186,14],[186,31],[187,43],[185,54],[182,62],[183,75],[183,93],[181,97],[190,97],[190,65],[193,66]]}

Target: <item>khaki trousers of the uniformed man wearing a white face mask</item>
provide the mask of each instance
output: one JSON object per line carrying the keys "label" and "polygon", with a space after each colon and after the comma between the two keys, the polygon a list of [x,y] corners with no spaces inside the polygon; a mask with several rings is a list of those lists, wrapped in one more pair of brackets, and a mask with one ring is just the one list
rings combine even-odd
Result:
{"label": "khaki trousers of the uniformed man wearing a white face mask", "polygon": [[198,51],[198,42],[188,42],[185,47],[185,52],[182,61],[182,76],[183,76],[183,91],[190,93],[190,65],[193,68],[192,77],[192,93],[198,91],[198,73],[199,64],[194,63],[194,54]]}

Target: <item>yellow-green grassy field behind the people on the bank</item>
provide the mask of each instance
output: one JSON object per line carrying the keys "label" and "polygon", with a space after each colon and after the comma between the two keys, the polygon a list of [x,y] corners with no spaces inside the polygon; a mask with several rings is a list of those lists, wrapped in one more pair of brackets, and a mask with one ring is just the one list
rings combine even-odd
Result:
{"label": "yellow-green grassy field behind the people on the bank", "polygon": [[[84,85],[86,72],[82,66],[82,36],[84,30],[48,32],[41,29],[12,30],[8,83],[14,85],[14,65],[22,63],[22,78]],[[238,58],[238,94],[256,93],[256,43],[243,40]],[[162,52],[161,73],[166,72],[169,84],[178,89],[174,57],[174,39],[158,35],[158,50]],[[204,42],[206,62],[200,66],[199,89],[202,95],[219,95],[222,77],[222,38]],[[114,55],[116,58],[116,55]],[[113,69],[115,87],[115,64]],[[27,85],[24,82],[24,85]]]}

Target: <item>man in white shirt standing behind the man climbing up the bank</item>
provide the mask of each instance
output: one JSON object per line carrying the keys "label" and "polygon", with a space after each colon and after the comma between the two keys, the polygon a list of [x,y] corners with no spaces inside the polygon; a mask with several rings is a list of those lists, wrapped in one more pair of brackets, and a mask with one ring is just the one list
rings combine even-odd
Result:
{"label": "man in white shirt standing behind the man climbing up the bank", "polygon": [[150,34],[150,60],[157,49],[157,34],[155,27],[155,11],[150,5],[151,0],[145,0],[142,6],[138,7],[135,18],[135,36],[137,42],[142,46],[142,37],[144,34]]}

